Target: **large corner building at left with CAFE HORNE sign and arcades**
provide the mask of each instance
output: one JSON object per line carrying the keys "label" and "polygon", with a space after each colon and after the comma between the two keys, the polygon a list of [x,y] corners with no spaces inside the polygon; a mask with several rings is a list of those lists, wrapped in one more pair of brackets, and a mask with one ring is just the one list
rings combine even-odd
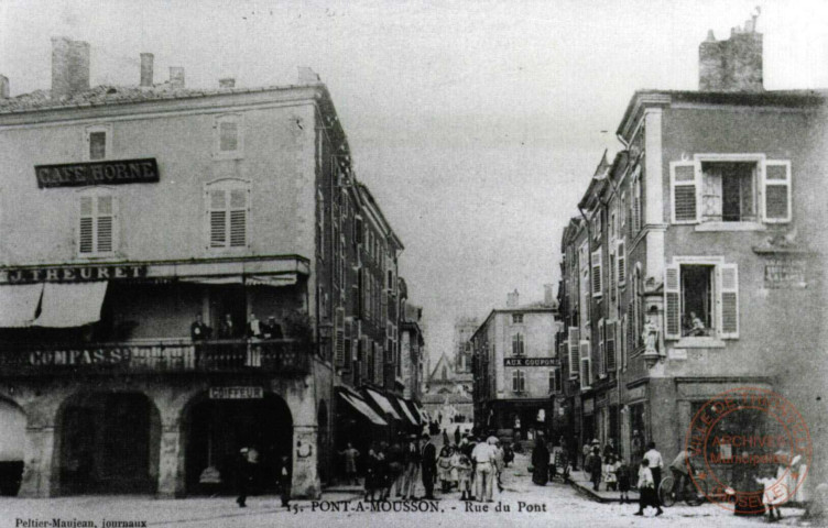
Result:
{"label": "large corner building at left with CAFE HORNE sign and arcades", "polygon": [[90,87],[88,44],[52,58],[51,90],[0,77],[0,440],[25,439],[0,461],[22,452],[20,494],[228,491],[253,447],[262,483],[287,455],[294,495],[318,496],[336,418],[384,422],[337,394],[384,386],[402,249],[326,86],[156,84],[142,54],[139,86]]}

